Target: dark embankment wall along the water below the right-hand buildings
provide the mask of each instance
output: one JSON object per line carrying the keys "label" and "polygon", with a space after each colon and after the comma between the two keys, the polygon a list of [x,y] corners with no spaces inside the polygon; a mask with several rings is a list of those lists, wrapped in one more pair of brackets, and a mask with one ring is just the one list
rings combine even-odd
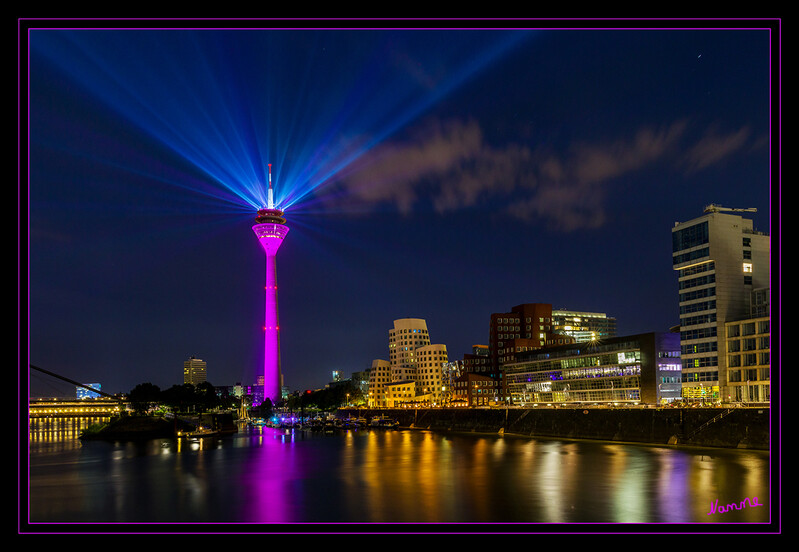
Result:
{"label": "dark embankment wall along the water below the right-hand buildings", "polygon": [[347,418],[385,415],[439,432],[592,439],[769,450],[768,408],[418,408],[341,409]]}

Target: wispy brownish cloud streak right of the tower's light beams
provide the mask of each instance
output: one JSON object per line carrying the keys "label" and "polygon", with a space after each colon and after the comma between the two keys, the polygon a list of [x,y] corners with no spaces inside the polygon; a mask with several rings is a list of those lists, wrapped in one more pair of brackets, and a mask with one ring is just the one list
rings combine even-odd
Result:
{"label": "wispy brownish cloud streak right of the tower's light beams", "polygon": [[391,204],[401,213],[422,201],[439,213],[504,202],[505,212],[521,220],[562,231],[595,228],[606,220],[606,199],[620,177],[663,162],[701,170],[740,151],[749,138],[746,128],[726,135],[714,130],[686,145],[688,126],[641,128],[629,138],[555,153],[490,145],[474,121],[428,123],[358,159],[340,180],[338,197],[361,207]]}

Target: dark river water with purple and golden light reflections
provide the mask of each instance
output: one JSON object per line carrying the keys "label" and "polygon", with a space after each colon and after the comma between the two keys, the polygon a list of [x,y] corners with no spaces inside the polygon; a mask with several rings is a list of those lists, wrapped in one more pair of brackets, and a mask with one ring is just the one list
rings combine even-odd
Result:
{"label": "dark river water with purple and golden light reflections", "polygon": [[193,523],[290,532],[333,523],[498,532],[746,523],[757,531],[772,516],[764,451],[372,429],[106,443],[80,441],[75,423],[31,427],[33,531],[109,522],[167,524],[159,531]]}

